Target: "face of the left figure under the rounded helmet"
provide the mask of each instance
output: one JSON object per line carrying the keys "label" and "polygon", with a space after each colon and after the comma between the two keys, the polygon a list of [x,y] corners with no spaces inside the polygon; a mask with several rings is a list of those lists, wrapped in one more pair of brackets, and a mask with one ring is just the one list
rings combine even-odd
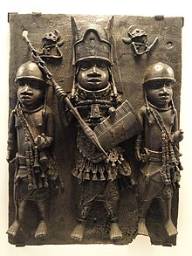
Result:
{"label": "face of the left figure under the rounded helmet", "polygon": [[24,107],[40,107],[45,99],[45,86],[36,80],[17,81],[17,98]]}

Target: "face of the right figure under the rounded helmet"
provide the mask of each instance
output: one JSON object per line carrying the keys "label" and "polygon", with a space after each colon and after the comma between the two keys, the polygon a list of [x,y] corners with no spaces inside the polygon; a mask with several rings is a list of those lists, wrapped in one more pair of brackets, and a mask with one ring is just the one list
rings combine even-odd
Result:
{"label": "face of the right figure under the rounded helmet", "polygon": [[154,80],[145,86],[147,100],[156,107],[168,107],[173,97],[173,81]]}

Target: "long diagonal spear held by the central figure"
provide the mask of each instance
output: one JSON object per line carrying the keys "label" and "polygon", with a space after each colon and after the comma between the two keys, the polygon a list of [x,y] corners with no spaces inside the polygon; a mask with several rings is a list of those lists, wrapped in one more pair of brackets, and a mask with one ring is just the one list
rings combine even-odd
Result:
{"label": "long diagonal spear held by the central figure", "polygon": [[47,66],[45,66],[45,61],[41,59],[39,52],[31,45],[31,42],[28,38],[28,31],[23,31],[23,38],[25,42],[29,45],[31,49],[32,57],[37,61],[39,68],[45,72],[47,80],[51,80],[51,84],[55,89],[55,93],[57,95],[58,99],[63,99],[67,107],[71,110],[74,117],[79,121],[79,125],[84,131],[87,138],[93,142],[94,146],[96,146],[97,149],[99,149],[100,152],[102,152],[104,155],[106,155],[106,151],[102,148],[102,146],[99,143],[97,135],[93,132],[93,130],[87,125],[86,121],[83,120],[81,115],[79,114],[76,107],[73,107],[71,100],[67,97],[65,91],[61,86],[58,86],[58,83],[56,80],[54,80],[51,72],[48,70]]}

